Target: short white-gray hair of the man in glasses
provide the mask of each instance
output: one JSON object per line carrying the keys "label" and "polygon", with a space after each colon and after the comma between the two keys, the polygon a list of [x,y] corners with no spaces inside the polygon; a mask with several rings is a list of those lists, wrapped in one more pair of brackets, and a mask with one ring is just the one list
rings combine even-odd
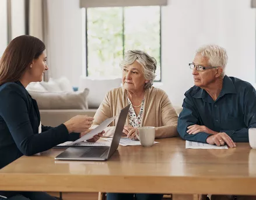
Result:
{"label": "short white-gray hair of the man in glasses", "polygon": [[227,65],[227,52],[226,49],[218,45],[205,45],[197,50],[202,56],[208,58],[208,63],[212,67],[222,67],[222,76],[225,76],[225,68]]}

